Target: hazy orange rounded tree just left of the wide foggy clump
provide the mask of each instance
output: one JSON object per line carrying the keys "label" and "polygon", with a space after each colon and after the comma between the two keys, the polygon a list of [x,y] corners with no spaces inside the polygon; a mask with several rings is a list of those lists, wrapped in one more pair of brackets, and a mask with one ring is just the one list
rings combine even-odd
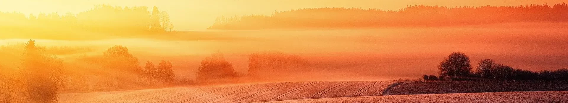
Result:
{"label": "hazy orange rounded tree just left of the wide foggy clump", "polygon": [[211,57],[203,59],[197,71],[197,81],[226,79],[236,76],[231,63],[225,61],[222,53],[212,53]]}

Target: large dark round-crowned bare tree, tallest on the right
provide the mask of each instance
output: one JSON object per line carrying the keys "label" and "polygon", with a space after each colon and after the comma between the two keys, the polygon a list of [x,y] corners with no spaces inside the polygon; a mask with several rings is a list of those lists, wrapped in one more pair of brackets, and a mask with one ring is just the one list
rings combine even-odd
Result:
{"label": "large dark round-crowned bare tree, tallest on the right", "polygon": [[453,52],[438,65],[438,70],[440,70],[440,75],[450,76],[450,79],[456,80],[458,77],[470,74],[470,64],[469,57],[464,53]]}

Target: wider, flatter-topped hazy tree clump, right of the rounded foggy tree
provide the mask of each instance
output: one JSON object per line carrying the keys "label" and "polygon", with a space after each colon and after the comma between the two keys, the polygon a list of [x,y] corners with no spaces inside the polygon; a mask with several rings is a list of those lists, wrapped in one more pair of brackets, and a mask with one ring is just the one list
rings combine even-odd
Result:
{"label": "wider, flatter-topped hazy tree clump, right of the rounded foggy tree", "polygon": [[282,74],[296,70],[308,63],[298,55],[281,52],[257,52],[249,57],[249,76],[256,78],[270,78],[274,74]]}

